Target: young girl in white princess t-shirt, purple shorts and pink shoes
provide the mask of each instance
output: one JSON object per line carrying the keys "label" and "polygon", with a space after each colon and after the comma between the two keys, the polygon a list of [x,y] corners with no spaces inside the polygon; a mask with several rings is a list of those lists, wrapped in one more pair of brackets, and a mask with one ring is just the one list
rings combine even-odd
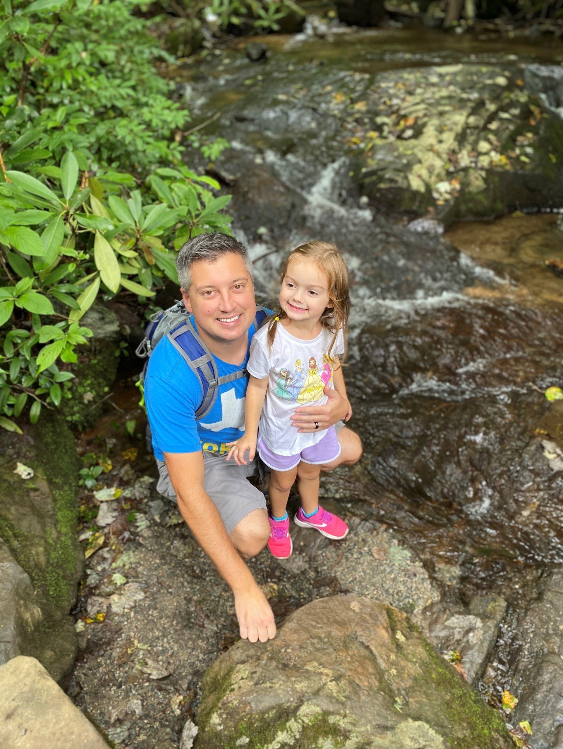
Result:
{"label": "young girl in white princess t-shirt, purple shorts and pink shoes", "polygon": [[[247,450],[253,460],[258,449],[271,468],[268,548],[279,559],[292,553],[286,505],[295,477],[301,497],[295,523],[329,539],[348,533],[343,520],[319,506],[320,466],[340,455],[336,429],[320,430],[315,422],[319,431],[299,432],[290,421],[295,407],[324,404],[326,385],[346,398],[339,356],[348,315],[348,271],[340,252],[325,242],[308,242],[287,258],[280,307],[250,345],[245,431],[230,443],[227,460],[246,465]],[[349,407],[346,421],[351,415]]]}

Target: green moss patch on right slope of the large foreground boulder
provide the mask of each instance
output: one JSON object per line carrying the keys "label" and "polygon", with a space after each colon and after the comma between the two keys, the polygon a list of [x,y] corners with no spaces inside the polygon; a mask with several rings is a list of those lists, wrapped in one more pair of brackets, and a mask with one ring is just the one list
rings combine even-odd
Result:
{"label": "green moss patch on right slope of the large foreground boulder", "polygon": [[[445,696],[445,717],[451,724],[451,734],[445,737],[451,749],[499,749],[506,736],[505,745],[511,739],[505,722],[492,708],[484,704],[481,695],[448,665],[430,643],[424,641],[429,663],[424,664],[421,682],[435,685],[436,692]],[[455,735],[457,731],[463,735]]]}

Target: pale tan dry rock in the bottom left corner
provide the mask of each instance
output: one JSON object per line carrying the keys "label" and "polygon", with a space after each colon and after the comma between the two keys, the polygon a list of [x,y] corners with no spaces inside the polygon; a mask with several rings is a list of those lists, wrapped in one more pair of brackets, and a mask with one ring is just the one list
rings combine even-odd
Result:
{"label": "pale tan dry rock in the bottom left corner", "polygon": [[21,655],[0,666],[0,743],[25,749],[109,746],[40,663]]}

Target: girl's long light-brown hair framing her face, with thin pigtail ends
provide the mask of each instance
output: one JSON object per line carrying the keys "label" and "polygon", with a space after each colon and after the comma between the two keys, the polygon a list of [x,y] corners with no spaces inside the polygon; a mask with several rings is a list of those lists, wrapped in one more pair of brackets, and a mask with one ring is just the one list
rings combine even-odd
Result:
{"label": "girl's long light-brown hair framing her face, with thin pigtail ends", "polygon": [[[319,322],[322,327],[328,328],[333,334],[327,352],[330,357],[332,348],[336,343],[338,331],[344,330],[350,314],[348,269],[346,268],[346,263],[334,244],[329,244],[328,242],[307,242],[289,253],[281,273],[282,282],[286,277],[289,263],[296,258],[312,261],[326,276],[330,303],[319,318]],[[274,315],[268,318],[268,344],[270,346],[274,343],[278,321],[286,317],[286,313],[278,306]]]}

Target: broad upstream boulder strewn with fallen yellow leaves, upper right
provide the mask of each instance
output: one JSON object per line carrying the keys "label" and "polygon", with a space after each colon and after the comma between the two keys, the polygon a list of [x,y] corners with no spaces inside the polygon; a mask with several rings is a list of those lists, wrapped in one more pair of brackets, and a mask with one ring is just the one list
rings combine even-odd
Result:
{"label": "broad upstream boulder strewn with fallen yellow leaves, upper right", "polygon": [[[259,73],[231,50],[205,93],[194,81],[193,105],[202,118],[220,108],[235,150],[275,162],[277,177],[299,189],[343,157],[352,191],[384,212],[451,222],[563,206],[556,65],[508,49],[464,56],[443,40],[434,54],[395,61],[388,31],[348,37],[354,55],[346,38],[272,47]],[[220,169],[244,179],[231,161],[223,154]]]}

